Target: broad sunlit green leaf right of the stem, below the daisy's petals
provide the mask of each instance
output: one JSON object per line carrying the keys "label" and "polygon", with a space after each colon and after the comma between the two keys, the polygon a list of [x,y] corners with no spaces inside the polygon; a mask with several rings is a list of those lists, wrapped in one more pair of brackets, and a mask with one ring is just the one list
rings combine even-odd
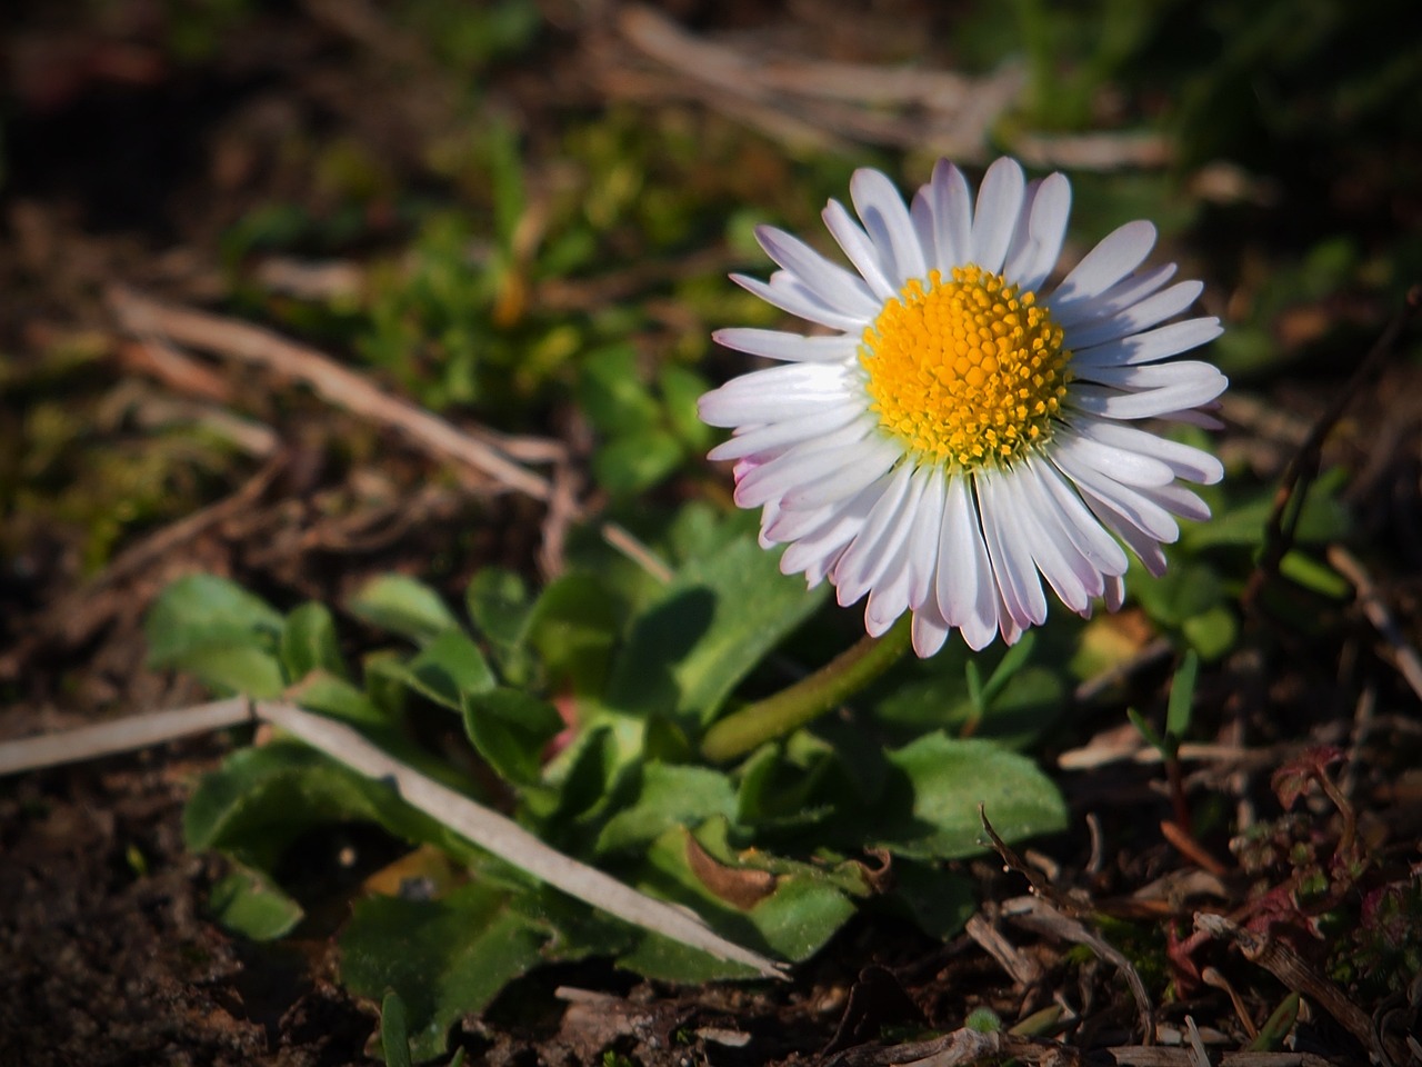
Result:
{"label": "broad sunlit green leaf right of the stem, below the daisy's petals", "polygon": [[900,780],[890,782],[875,811],[849,821],[893,852],[917,859],[981,852],[980,804],[1005,841],[1066,825],[1066,807],[1052,781],[1031,760],[991,741],[933,733],[887,758]]}

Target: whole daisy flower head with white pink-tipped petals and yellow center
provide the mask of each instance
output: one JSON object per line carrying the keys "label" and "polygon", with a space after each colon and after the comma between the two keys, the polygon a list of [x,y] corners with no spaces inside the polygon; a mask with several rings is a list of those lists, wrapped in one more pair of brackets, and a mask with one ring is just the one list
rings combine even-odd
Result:
{"label": "whole daisy flower head with white pink-tipped petals and yellow center", "polygon": [[1227,381],[1175,360],[1220,334],[1214,317],[1166,320],[1203,286],[1175,265],[1146,267],[1156,230],[1129,222],[1057,285],[1071,186],[1028,184],[1012,159],[983,178],[940,161],[906,206],[879,171],[823,219],[853,270],[784,230],[757,238],[781,269],[732,279],[825,327],[758,329],[721,344],[784,366],[701,397],[705,423],[734,435],[735,501],[764,508],[761,543],[788,545],[785,573],[829,580],[840,605],[867,596],[865,626],[913,613],[930,656],[950,630],[974,649],[1015,642],[1047,619],[1042,579],[1074,612],[1115,610],[1126,549],[1152,573],[1176,518],[1209,508],[1182,482],[1212,484],[1220,462],[1139,420],[1217,425]]}

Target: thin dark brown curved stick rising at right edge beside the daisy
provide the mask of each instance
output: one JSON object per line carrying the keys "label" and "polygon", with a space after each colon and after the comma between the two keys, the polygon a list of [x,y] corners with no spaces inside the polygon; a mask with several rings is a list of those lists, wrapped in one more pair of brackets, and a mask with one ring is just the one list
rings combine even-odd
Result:
{"label": "thin dark brown curved stick rising at right edge beside the daisy", "polygon": [[1344,411],[1348,410],[1348,404],[1358,396],[1364,384],[1378,373],[1392,354],[1398,339],[1402,337],[1402,331],[1419,309],[1422,309],[1422,286],[1412,286],[1402,302],[1402,307],[1388,322],[1372,349],[1368,350],[1368,354],[1354,370],[1352,377],[1338,390],[1332,403],[1308,431],[1308,437],[1298,447],[1294,458],[1290,460],[1288,467],[1284,469],[1284,477],[1280,479],[1278,492],[1274,495],[1274,509],[1268,516],[1268,526],[1264,535],[1264,551],[1240,598],[1246,610],[1258,599],[1264,583],[1278,572],[1280,561],[1288,555],[1288,549],[1294,545],[1294,534],[1298,529],[1298,519],[1304,512],[1308,488],[1314,478],[1318,477],[1318,467],[1322,462],[1324,441],[1328,440],[1328,434],[1337,425],[1338,420],[1342,418]]}

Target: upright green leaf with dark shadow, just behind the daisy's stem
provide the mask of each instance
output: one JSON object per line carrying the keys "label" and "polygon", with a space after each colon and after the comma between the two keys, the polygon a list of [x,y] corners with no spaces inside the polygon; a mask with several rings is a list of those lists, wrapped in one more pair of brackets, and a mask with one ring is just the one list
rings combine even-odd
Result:
{"label": "upright green leaf with dark shadow, just behind the daisy's stem", "polygon": [[745,538],[683,568],[633,622],[607,703],[671,711],[700,733],[737,683],[828,593],[828,586],[806,592],[776,563],[776,553]]}

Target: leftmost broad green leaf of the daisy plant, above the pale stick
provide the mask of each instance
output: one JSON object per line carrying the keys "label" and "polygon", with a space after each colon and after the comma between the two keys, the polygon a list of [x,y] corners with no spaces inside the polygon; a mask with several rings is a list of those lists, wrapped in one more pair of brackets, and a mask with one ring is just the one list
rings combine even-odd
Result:
{"label": "leftmost broad green leaf of the daisy plant, above the pale stick", "polygon": [[148,663],[179,667],[195,647],[223,644],[274,652],[282,615],[226,578],[189,575],[168,585],[144,620]]}

